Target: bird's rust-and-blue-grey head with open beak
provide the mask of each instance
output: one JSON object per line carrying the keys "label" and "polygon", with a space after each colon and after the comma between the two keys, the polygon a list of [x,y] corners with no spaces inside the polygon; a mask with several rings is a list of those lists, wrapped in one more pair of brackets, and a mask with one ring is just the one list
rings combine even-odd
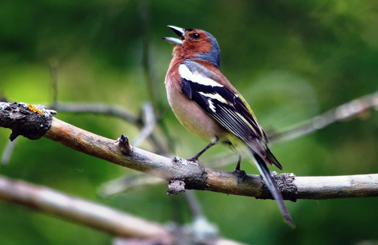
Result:
{"label": "bird's rust-and-blue-grey head with open beak", "polygon": [[163,37],[174,45],[174,57],[186,60],[202,60],[220,66],[220,49],[217,39],[209,32],[199,29],[183,29],[176,26],[168,26],[179,37]]}

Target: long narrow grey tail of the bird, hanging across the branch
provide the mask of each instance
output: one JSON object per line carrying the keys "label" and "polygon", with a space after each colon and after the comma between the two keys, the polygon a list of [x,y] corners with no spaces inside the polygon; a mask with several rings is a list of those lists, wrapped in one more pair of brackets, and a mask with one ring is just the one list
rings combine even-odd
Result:
{"label": "long narrow grey tail of the bird, hanging across the branch", "polygon": [[[268,152],[271,154],[271,156],[273,156],[273,154],[270,152],[269,149],[268,149]],[[285,218],[285,220],[289,223],[289,225],[291,225],[291,227],[295,227],[294,222],[291,219],[290,213],[287,210],[287,208],[285,206],[285,203],[283,203],[282,194],[281,194],[280,190],[278,189],[277,184],[274,181],[273,177],[270,175],[270,171],[268,169],[268,166],[266,165],[265,160],[262,159],[262,157],[260,157],[256,153],[254,153],[254,157],[255,157],[256,163],[257,163],[256,166],[259,169],[259,171],[260,171],[263,179],[265,180],[266,186],[268,186],[270,192],[272,193],[272,195],[274,197],[274,200],[276,200],[278,208],[279,208],[281,214],[283,215],[283,217]],[[276,158],[274,157],[274,159],[276,159]],[[278,161],[277,161],[277,163],[278,163]],[[276,165],[276,164],[274,164],[274,165]],[[281,166],[281,165],[279,165],[279,166]],[[282,166],[281,166],[280,169],[282,169]]]}

